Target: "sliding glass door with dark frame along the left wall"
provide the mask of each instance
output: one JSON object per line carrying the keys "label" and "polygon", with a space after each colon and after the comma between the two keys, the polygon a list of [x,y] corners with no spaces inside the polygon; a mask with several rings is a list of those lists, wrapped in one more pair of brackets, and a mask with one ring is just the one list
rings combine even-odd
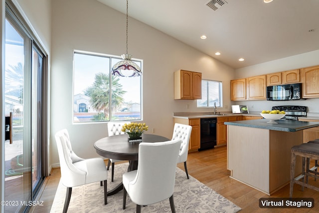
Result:
{"label": "sliding glass door with dark frame along the left wall", "polygon": [[12,11],[5,18],[5,212],[25,212],[44,180],[45,55]]}

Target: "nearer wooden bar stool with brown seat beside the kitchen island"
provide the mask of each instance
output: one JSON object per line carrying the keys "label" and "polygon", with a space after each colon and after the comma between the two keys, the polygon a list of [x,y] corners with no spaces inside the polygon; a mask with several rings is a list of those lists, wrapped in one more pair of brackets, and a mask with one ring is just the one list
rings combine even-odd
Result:
{"label": "nearer wooden bar stool with brown seat beside the kitchen island", "polygon": [[[296,156],[302,157],[302,175],[295,178],[295,164]],[[307,162],[306,162],[307,159]],[[319,191],[319,187],[308,184],[308,177],[316,178],[316,175],[319,175],[317,171],[309,171],[309,162],[310,159],[319,160],[319,144],[316,143],[307,143],[301,144],[298,146],[293,146],[291,148],[291,167],[290,167],[290,197],[293,197],[294,184],[299,184],[304,187]],[[306,183],[305,183],[306,177]],[[303,178],[303,181],[299,181],[300,178]]]}

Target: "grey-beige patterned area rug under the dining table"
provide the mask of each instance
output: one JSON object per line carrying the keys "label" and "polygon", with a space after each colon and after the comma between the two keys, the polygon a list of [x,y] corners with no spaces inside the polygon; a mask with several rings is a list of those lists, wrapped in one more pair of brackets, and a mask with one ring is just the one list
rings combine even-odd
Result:
{"label": "grey-beige patterned area rug under the dining table", "polygon": [[[111,170],[108,172],[108,190],[113,189],[122,181],[122,175],[127,171],[128,163],[115,166],[114,182],[111,182]],[[126,209],[122,209],[123,191],[108,196],[108,204],[104,205],[104,190],[100,183],[92,183],[72,188],[68,213],[135,213],[136,205],[127,197]],[[60,181],[51,213],[61,213],[66,195],[66,187]],[[236,213],[241,209],[205,186],[195,178],[186,178],[184,171],[176,168],[174,190],[176,213]],[[142,207],[144,213],[170,213],[169,199],[150,206]]]}

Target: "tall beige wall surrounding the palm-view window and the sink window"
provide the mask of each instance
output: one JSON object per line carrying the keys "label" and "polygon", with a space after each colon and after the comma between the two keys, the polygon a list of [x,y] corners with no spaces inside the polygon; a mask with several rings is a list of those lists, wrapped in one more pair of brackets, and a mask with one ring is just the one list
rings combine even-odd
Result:
{"label": "tall beige wall surrounding the palm-view window and the sink window", "polygon": [[[125,14],[98,1],[52,1],[51,141],[58,130],[67,128],[72,148],[83,158],[98,156],[93,144],[107,136],[107,124],[72,124],[73,50],[125,53],[125,23]],[[231,67],[133,18],[129,18],[128,49],[134,58],[144,60],[143,116],[155,134],[171,138],[173,112],[205,111],[196,108],[195,100],[174,100],[173,72],[178,69],[222,81],[224,105],[230,110]],[[52,163],[58,163],[55,143],[51,154]]]}

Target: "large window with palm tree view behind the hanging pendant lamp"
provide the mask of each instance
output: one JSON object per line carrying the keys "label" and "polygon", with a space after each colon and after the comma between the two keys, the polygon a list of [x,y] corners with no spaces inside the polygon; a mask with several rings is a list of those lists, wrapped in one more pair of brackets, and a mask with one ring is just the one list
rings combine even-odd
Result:
{"label": "large window with palm tree view behind the hanging pendant lamp", "polygon": [[[74,52],[73,122],[142,119],[142,76],[111,75],[120,57]],[[140,67],[142,61],[134,60]]]}

